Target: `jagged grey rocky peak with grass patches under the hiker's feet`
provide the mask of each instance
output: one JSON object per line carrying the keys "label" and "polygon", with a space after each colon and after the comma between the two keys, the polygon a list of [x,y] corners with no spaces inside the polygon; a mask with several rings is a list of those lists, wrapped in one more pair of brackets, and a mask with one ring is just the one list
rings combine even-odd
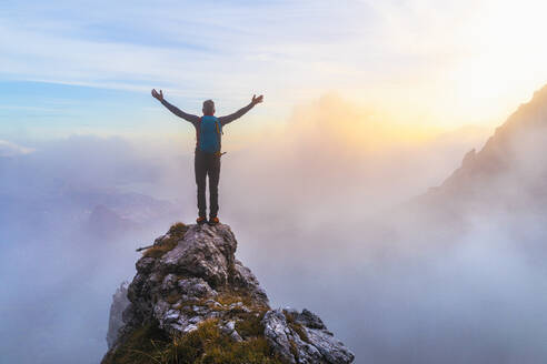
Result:
{"label": "jagged grey rocky peak with grass patches under the hiker's feet", "polygon": [[110,323],[121,325],[102,363],[354,362],[312,312],[272,310],[236,249],[226,224],[177,223],[156,239],[115,294]]}

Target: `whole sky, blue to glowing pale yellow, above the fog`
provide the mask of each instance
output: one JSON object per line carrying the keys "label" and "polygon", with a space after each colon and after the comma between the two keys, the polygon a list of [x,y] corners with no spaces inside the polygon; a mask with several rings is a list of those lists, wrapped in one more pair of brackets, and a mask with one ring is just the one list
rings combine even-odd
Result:
{"label": "whole sky, blue to glowing pale yellow, above the fog", "polygon": [[[286,124],[324,94],[406,125],[501,123],[547,83],[540,1],[2,1],[0,140],[186,132],[190,113],[265,103]],[[530,54],[534,54],[533,57]]]}

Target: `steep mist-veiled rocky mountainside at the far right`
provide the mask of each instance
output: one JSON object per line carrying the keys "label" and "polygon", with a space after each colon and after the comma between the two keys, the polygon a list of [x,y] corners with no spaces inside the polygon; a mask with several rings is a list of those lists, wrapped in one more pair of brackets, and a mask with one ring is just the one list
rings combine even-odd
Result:
{"label": "steep mist-veiled rocky mountainside at the far right", "polygon": [[[496,129],[479,151],[469,151],[457,169],[429,196],[455,195],[457,199],[489,196],[496,201],[514,198],[518,191],[541,190],[547,180],[543,162],[547,152],[547,85],[521,104],[507,121]],[[528,192],[528,191],[525,191]],[[521,193],[518,193],[518,199]]]}

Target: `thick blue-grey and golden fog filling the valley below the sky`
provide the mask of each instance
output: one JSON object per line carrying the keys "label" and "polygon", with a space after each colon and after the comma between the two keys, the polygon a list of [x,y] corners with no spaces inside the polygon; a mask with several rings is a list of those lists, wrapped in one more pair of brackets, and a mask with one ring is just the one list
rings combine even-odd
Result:
{"label": "thick blue-grey and golden fog filling the valley below the sky", "polygon": [[[240,144],[243,122],[225,129],[220,219],[272,306],[318,313],[356,363],[544,362],[537,129],[504,131],[516,152],[496,183],[465,170],[422,198],[491,131],[416,133],[335,95]],[[97,363],[135,247],[195,219],[191,143],[18,144],[0,156],[2,362]]]}

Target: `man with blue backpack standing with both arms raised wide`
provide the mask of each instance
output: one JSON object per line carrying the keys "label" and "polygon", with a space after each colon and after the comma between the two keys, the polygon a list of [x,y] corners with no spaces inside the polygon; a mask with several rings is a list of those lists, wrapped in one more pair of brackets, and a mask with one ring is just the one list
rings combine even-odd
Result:
{"label": "man with blue backpack standing with both arms raised wide", "polygon": [[[251,102],[239,111],[226,115],[215,117],[215,102],[203,101],[203,117],[188,114],[173,107],[163,99],[163,92],[153,89],[152,97],[158,99],[169,111],[177,117],[192,123],[196,128],[196,154],[193,165],[196,170],[196,184],[198,185],[198,224],[208,222],[210,225],[219,223],[218,214],[218,181],[220,176],[220,151],[222,127],[245,115],[257,103],[262,102],[263,97],[252,97]],[[209,176],[209,221],[207,221],[206,179]]]}

